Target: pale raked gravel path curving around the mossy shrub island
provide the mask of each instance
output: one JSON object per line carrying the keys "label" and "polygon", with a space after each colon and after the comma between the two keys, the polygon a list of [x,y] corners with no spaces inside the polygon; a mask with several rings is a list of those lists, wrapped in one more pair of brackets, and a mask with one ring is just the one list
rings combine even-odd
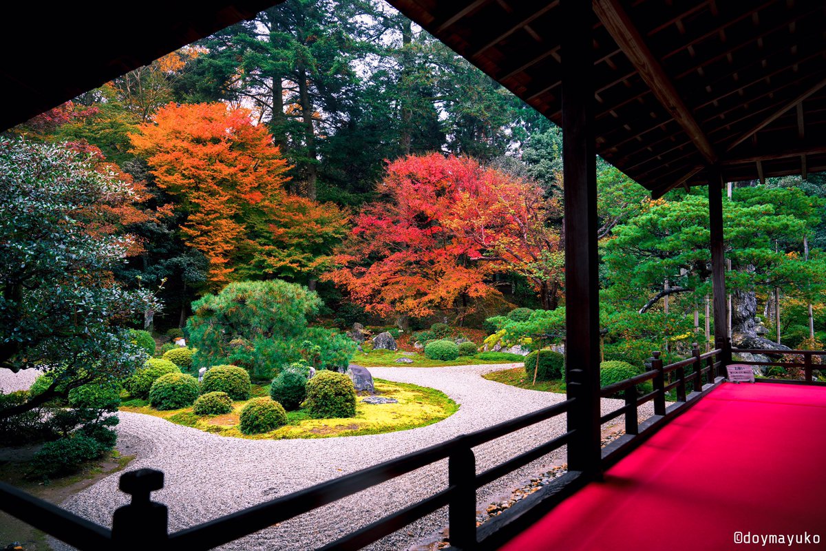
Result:
{"label": "pale raked gravel path curving around the mossy shrub island", "polygon": [[[564,400],[561,394],[523,390],[482,378],[483,373],[515,365],[370,368],[373,377],[438,388],[461,405],[448,419],[419,429],[328,439],[249,440],[211,435],[158,417],[123,412],[118,449],[136,456],[130,468],[164,471],[166,487],[154,492],[154,500],[169,506],[170,531],[180,530]],[[619,401],[605,400],[603,411],[620,405]],[[648,415],[649,411],[640,411],[641,418]],[[621,421],[619,418],[614,423]],[[479,446],[474,450],[477,469],[481,472],[502,463],[562,434],[564,429],[565,417],[558,416]],[[481,488],[477,492],[479,506],[487,506],[502,492],[521,486],[532,474],[547,470],[563,458],[564,449],[560,449]],[[63,506],[109,525],[112,512],[127,501],[117,490],[117,482],[118,475],[104,478]],[[430,496],[446,484],[447,462],[434,463],[222,549],[314,549]],[[444,509],[368,549],[406,549],[446,524]]]}

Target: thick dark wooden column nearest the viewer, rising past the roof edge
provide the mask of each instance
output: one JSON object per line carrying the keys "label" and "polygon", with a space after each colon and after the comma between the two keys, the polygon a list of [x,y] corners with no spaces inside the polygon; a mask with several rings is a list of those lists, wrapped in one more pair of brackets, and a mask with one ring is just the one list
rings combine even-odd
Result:
{"label": "thick dark wooden column nearest the viewer, rising past the roof edge", "polygon": [[562,0],[563,175],[565,188],[565,356],[568,468],[598,475],[600,448],[600,302],[596,224],[591,2]]}

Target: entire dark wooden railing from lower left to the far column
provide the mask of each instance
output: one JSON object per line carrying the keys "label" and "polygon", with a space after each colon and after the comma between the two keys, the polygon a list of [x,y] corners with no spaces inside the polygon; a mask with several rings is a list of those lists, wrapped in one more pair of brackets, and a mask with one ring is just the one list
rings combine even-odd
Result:
{"label": "entire dark wooden railing from lower left to the far column", "polygon": [[[813,353],[817,354],[817,353]],[[826,353],[823,353],[826,354]],[[604,467],[628,454],[662,425],[678,416],[687,406],[705,396],[722,381],[724,366],[722,349],[700,354],[696,344],[691,358],[663,365],[660,353],[654,352],[645,373],[620,381],[601,389],[601,397],[624,397],[624,406],[601,416],[601,423],[625,416],[625,435],[609,444],[602,452]],[[686,376],[686,368],[691,374]],[[667,374],[674,373],[674,381],[666,383]],[[638,396],[636,387],[643,382],[653,382],[653,391]],[[704,384],[705,381],[705,384]],[[691,392],[689,389],[691,388]],[[667,406],[667,393],[676,390],[676,403]],[[532,509],[539,503],[546,508],[575,492],[598,473],[569,472],[563,477],[517,501],[508,514],[496,516],[480,529],[476,526],[477,489],[503,477],[528,463],[568,444],[576,428],[550,439],[534,449],[510,458],[505,463],[477,474],[473,448],[491,440],[509,435],[544,420],[560,416],[572,410],[574,398],[534,411],[525,416],[507,420],[487,429],[459,436],[448,442],[420,449],[400,458],[351,473],[328,482],[322,482],[287,496],[278,497],[256,506],[210,520],[169,534],[168,509],[151,501],[151,492],[164,487],[164,473],[154,469],[139,469],[121,475],[120,488],[132,496],[129,505],[122,506],[112,518],[112,529],[64,511],[57,506],[26,494],[15,487],[0,482],[0,511],[16,516],[29,525],[51,534],[78,549],[187,549],[197,551],[230,543],[268,526],[292,519],[320,506],[328,505],[345,496],[351,496],[370,487],[387,482],[401,475],[412,473],[441,460],[448,460],[448,485],[430,497],[406,506],[369,525],[325,544],[320,549],[361,549],[388,534],[411,524],[425,515],[448,507],[449,540],[453,549],[495,549],[506,541],[507,530],[518,530],[532,518]],[[642,424],[638,420],[638,407],[653,401],[654,415]],[[520,524],[521,523],[521,524]]]}

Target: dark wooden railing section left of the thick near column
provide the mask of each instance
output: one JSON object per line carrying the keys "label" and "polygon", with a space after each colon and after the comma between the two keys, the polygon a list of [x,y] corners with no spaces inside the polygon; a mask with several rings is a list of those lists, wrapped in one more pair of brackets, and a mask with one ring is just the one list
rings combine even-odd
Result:
{"label": "dark wooden railing section left of the thick near column", "polygon": [[[150,494],[164,487],[164,473],[139,469],[121,475],[120,488],[132,496],[112,519],[112,530],[64,511],[15,487],[0,482],[0,511],[16,516],[29,525],[78,549],[212,549],[245,535],[253,534],[283,520],[291,519],[345,496],[411,473],[431,463],[448,459],[448,487],[417,501],[401,511],[364,526],[320,549],[361,549],[387,534],[419,520],[441,507],[449,507],[450,544],[458,549],[477,549],[476,491],[478,488],[549,454],[568,443],[574,430],[510,458],[505,463],[476,473],[473,448],[509,435],[516,430],[567,413],[573,399],[548,406],[525,416],[507,420],[487,429],[459,436],[430,448],[345,475],[316,486],[278,497],[256,506],[169,534],[166,506],[151,501]],[[580,473],[568,473],[571,483]]]}

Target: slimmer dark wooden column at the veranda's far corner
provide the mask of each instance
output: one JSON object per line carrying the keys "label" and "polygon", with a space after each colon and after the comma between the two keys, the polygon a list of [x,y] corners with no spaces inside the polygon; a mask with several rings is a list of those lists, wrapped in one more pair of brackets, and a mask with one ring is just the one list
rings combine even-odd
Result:
{"label": "slimmer dark wooden column at the veranda's far corner", "polygon": [[709,229],[711,281],[714,284],[714,348],[724,350],[723,360],[731,361],[729,311],[725,296],[725,252],[723,249],[723,181],[713,173],[709,182]]}

